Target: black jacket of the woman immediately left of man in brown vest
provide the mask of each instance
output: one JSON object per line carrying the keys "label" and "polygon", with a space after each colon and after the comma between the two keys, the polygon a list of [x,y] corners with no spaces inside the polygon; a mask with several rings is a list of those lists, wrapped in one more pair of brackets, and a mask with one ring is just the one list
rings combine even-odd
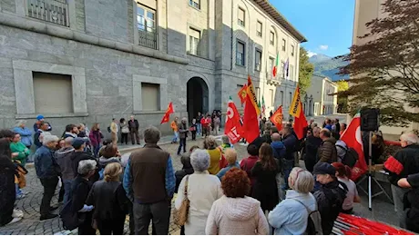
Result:
{"label": "black jacket of the woman immediately left of man in brown vest", "polygon": [[87,205],[95,206],[93,219],[101,221],[125,218],[128,201],[121,182],[95,182],[87,197]]}

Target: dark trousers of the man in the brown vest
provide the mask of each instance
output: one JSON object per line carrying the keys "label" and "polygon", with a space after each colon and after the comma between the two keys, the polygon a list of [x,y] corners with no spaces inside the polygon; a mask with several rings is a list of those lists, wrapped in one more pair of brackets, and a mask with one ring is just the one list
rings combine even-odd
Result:
{"label": "dark trousers of the man in the brown vest", "polygon": [[134,202],[134,219],[136,222],[136,235],[148,235],[148,226],[153,221],[156,229],[155,235],[169,234],[170,202],[141,204]]}

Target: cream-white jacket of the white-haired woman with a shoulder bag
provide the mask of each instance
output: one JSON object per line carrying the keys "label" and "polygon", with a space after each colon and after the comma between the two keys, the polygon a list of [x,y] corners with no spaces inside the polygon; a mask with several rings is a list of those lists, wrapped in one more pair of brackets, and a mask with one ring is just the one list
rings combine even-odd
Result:
{"label": "cream-white jacket of the white-haired woman with a shoulder bag", "polygon": [[[184,198],[186,177],[179,184],[175,207],[179,209]],[[212,203],[223,195],[220,179],[210,172],[195,172],[189,175],[189,215],[185,224],[186,235],[205,235],[205,225]]]}

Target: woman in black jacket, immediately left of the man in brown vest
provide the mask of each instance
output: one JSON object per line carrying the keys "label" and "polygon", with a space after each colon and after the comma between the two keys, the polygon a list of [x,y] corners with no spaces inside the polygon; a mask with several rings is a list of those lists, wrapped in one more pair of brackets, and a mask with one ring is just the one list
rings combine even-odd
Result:
{"label": "woman in black jacket, immediately left of the man in brown vest", "polygon": [[95,182],[87,197],[87,205],[93,205],[93,220],[100,235],[123,235],[128,213],[128,198],[119,182],[122,166],[118,162],[107,164],[103,181]]}

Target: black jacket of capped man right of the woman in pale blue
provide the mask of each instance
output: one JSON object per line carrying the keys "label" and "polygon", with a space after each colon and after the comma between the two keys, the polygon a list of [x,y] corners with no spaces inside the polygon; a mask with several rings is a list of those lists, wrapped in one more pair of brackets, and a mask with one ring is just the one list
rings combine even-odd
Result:
{"label": "black jacket of capped man right of the woman in pale blue", "polygon": [[337,180],[322,184],[320,190],[314,192],[320,215],[322,216],[323,235],[332,233],[333,223],[342,211],[342,203],[346,198],[348,187]]}

